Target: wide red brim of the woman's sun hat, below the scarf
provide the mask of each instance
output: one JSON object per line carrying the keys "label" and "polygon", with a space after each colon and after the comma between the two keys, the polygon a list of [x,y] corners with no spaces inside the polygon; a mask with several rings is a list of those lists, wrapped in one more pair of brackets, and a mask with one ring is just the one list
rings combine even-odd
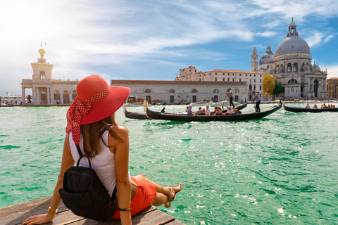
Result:
{"label": "wide red brim of the woman's sun hat, below the scarf", "polygon": [[82,116],[81,124],[91,124],[104,120],[106,117],[115,113],[129,96],[130,88],[124,86],[110,86],[110,91],[106,98],[94,103],[87,115]]}

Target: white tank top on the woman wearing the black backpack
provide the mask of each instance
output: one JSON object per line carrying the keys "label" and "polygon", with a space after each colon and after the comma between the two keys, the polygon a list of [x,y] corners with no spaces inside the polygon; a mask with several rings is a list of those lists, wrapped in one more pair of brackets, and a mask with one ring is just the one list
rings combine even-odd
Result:
{"label": "white tank top on the woman wearing the black backpack", "polygon": [[[104,143],[108,144],[108,134],[109,131],[105,131],[104,134],[102,134],[102,139],[104,140]],[[109,195],[113,194],[114,188],[115,188],[115,154],[111,153],[109,148],[104,145],[102,140],[100,139],[99,144],[101,146],[101,152],[96,155],[90,162],[92,163],[92,169],[95,170],[97,176],[99,176],[99,179],[101,180],[102,184],[107,188]],[[77,160],[79,160],[80,155],[77,152],[77,148],[75,145],[75,142],[73,140],[72,132],[69,134],[69,145],[70,150],[72,151],[72,157],[75,161],[75,165],[77,163]],[[82,135],[80,136],[80,148],[83,152],[83,139]],[[89,167],[89,162],[87,158],[82,158],[80,161],[80,166],[82,167]],[[129,171],[128,171],[129,173]],[[130,178],[130,173],[129,173]]]}

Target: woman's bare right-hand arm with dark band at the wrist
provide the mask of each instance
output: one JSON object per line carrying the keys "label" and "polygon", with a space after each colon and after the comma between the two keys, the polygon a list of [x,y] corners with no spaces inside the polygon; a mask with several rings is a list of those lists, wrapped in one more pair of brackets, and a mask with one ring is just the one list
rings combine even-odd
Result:
{"label": "woman's bare right-hand arm with dark band at the wrist", "polygon": [[[130,208],[131,199],[131,184],[129,178],[129,134],[128,130],[122,126],[114,126],[112,129],[124,139],[124,141],[118,142],[109,134],[108,143],[111,141],[113,143],[113,148],[115,148],[115,176],[116,188],[118,191],[118,207],[120,209],[128,209]],[[111,146],[110,143],[109,146]],[[120,217],[121,224],[132,224],[130,211],[120,211]]]}

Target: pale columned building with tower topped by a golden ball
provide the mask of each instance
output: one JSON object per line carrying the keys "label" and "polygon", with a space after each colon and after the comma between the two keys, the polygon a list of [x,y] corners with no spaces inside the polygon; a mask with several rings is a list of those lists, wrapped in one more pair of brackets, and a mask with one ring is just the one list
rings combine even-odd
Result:
{"label": "pale columned building with tower topped by a golden ball", "polygon": [[[32,79],[22,79],[22,96],[25,89],[32,89],[32,105],[69,105],[77,96],[77,80],[52,79],[53,64],[46,63],[44,49],[39,49],[40,58],[31,63],[33,69]],[[23,101],[23,105],[28,104]]]}

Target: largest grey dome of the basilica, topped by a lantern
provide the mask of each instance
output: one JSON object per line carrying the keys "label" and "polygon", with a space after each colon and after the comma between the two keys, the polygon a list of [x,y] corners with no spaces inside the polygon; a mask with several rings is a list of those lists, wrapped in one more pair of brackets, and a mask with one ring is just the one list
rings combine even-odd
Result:
{"label": "largest grey dome of the basilica, topped by a lantern", "polygon": [[308,43],[306,43],[304,39],[298,37],[296,23],[293,21],[289,24],[289,33],[287,34],[287,38],[280,42],[277,46],[276,55],[292,52],[311,53]]}

